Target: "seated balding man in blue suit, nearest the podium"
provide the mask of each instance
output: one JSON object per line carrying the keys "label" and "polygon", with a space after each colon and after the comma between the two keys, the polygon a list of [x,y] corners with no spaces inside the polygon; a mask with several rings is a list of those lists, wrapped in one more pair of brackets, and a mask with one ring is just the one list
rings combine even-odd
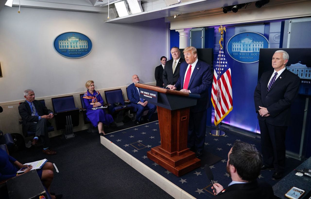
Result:
{"label": "seated balding man in blue suit, nearest the podium", "polygon": [[131,101],[131,104],[136,109],[136,121],[135,124],[139,125],[142,118],[142,114],[145,110],[149,109],[146,116],[146,122],[149,122],[152,114],[156,111],[156,105],[148,103],[148,101],[140,98],[139,89],[135,87],[135,83],[139,83],[139,77],[137,75],[132,76],[132,84],[128,86],[126,92],[128,93],[128,99]]}

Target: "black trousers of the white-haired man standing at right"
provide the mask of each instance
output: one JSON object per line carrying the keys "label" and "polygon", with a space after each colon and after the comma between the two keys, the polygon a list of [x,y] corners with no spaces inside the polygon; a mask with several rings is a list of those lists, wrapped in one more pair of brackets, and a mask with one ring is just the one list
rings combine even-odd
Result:
{"label": "black trousers of the white-haired man standing at right", "polygon": [[274,166],[275,172],[285,170],[285,133],[287,126],[273,126],[259,121],[263,165]]}

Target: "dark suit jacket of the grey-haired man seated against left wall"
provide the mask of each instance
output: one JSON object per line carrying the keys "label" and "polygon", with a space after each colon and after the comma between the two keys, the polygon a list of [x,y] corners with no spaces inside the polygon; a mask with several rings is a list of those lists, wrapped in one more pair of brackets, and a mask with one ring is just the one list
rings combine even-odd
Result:
{"label": "dark suit jacket of the grey-haired man seated against left wall", "polygon": [[[38,112],[39,116],[48,115],[50,113],[53,113],[53,111],[49,110],[47,107],[43,106],[43,104],[38,101],[34,100],[35,108]],[[25,101],[21,103],[21,105],[18,106],[18,112],[21,116],[21,119],[23,120],[22,128],[23,128],[23,134],[27,134],[27,130],[30,127],[30,124],[33,122],[39,121],[39,116],[31,116],[31,109],[29,104]],[[48,121],[48,125],[51,125]]]}

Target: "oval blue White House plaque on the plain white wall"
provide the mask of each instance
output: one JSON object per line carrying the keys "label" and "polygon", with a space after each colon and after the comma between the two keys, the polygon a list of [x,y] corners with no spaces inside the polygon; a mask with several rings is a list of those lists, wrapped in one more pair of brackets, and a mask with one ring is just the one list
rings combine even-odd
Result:
{"label": "oval blue White House plaque on the plain white wall", "polygon": [[88,55],[92,48],[91,40],[78,32],[65,32],[58,35],[53,46],[58,54],[68,58],[80,58]]}

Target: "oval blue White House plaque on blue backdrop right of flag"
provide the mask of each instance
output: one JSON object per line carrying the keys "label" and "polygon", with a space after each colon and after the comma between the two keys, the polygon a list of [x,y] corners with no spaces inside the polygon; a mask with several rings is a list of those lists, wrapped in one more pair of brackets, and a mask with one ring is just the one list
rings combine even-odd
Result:
{"label": "oval blue White House plaque on blue backdrop right of flag", "polygon": [[232,36],[227,43],[228,54],[242,63],[258,62],[261,48],[268,48],[268,40],[257,32],[241,32]]}

